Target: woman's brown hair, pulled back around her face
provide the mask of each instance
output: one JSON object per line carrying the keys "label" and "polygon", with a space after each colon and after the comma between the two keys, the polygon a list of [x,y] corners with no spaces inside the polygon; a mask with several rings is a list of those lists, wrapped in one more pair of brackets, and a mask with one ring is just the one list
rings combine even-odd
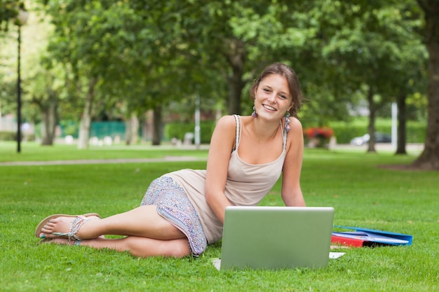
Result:
{"label": "woman's brown hair, pulled back around her face", "polygon": [[292,108],[290,109],[290,115],[297,118],[297,110],[302,107],[302,92],[300,91],[299,78],[295,74],[295,71],[283,63],[274,63],[269,65],[262,71],[262,73],[256,78],[255,82],[250,87],[250,98],[255,101],[255,90],[261,83],[262,79],[271,74],[279,74],[284,76],[288,82],[288,88],[292,95]]}

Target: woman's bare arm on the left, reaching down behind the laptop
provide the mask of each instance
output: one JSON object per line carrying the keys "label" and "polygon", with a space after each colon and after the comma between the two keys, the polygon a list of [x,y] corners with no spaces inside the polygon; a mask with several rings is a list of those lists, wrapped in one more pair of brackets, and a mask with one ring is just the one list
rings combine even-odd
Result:
{"label": "woman's bare arm on the left, reaching down behind the laptop", "polygon": [[218,120],[210,139],[207,176],[205,181],[205,200],[219,221],[224,223],[224,211],[230,206],[224,195],[231,150],[236,137],[234,116],[223,116]]}

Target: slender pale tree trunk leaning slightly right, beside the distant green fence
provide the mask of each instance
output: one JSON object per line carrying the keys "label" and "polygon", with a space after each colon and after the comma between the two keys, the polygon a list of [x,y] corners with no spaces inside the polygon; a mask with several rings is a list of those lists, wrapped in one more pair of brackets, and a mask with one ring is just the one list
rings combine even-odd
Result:
{"label": "slender pale tree trunk leaning slightly right, beside the distant green fence", "polygon": [[88,91],[86,94],[86,102],[81,116],[81,123],[79,125],[78,149],[88,148],[88,140],[90,138],[90,125],[92,116],[93,97],[95,95],[95,85],[97,78],[92,78],[88,84]]}

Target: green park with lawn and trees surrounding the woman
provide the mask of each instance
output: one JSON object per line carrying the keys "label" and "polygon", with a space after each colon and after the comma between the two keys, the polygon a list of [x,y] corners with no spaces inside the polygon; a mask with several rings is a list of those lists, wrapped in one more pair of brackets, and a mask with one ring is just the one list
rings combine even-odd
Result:
{"label": "green park with lawn and trees surrounding the woman", "polygon": [[[439,289],[437,0],[0,4],[1,291]],[[142,258],[34,236],[48,214],[105,218],[163,174],[206,169],[219,117],[252,114],[250,85],[272,62],[304,92],[306,206],[410,246],[218,271],[221,241],[198,258]],[[282,178],[259,204],[283,206],[281,191]]]}

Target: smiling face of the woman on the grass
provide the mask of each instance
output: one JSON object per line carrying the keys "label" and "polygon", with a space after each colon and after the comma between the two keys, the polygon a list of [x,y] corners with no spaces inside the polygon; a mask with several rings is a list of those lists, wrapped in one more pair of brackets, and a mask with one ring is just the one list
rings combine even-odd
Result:
{"label": "smiling face of the woman on the grass", "polygon": [[259,116],[282,118],[292,107],[292,96],[287,79],[270,74],[259,82],[255,90],[255,109]]}

